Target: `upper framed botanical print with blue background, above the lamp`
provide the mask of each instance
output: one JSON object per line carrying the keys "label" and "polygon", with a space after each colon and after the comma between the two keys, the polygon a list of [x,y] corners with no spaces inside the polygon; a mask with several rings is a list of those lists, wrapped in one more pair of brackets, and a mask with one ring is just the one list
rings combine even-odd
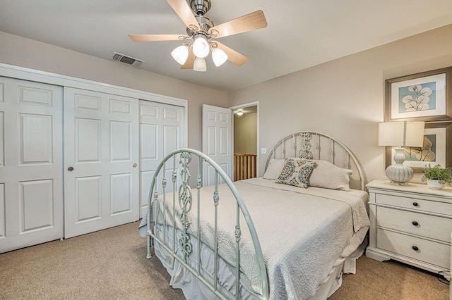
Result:
{"label": "upper framed botanical print with blue background, above the lamp", "polygon": [[385,120],[452,120],[452,67],[386,80]]}

